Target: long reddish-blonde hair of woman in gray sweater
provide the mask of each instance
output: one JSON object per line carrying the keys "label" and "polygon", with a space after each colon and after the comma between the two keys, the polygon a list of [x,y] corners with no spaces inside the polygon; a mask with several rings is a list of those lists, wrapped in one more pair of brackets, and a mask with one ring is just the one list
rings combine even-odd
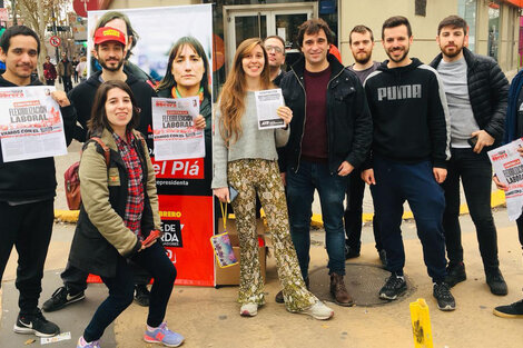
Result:
{"label": "long reddish-blonde hair of woman in gray sweater", "polygon": [[269,78],[269,64],[267,51],[265,50],[264,42],[259,38],[251,38],[244,40],[236,49],[233,68],[227,76],[224,88],[220,95],[219,111],[221,112],[221,120],[218,125],[219,133],[224,138],[227,147],[235,143],[241,136],[241,116],[245,111],[245,96],[246,82],[245,71],[241,61],[254,50],[256,46],[260,46],[264,52],[264,69],[262,70],[260,89],[269,89],[273,83]]}

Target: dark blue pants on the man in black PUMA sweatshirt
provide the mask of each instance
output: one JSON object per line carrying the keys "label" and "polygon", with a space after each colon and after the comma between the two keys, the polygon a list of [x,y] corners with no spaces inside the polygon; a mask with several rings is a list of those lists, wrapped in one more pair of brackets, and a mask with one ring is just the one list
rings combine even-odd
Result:
{"label": "dark blue pants on the man in black PUMA sweatshirt", "polygon": [[387,269],[403,275],[405,249],[402,239],[403,203],[408,201],[416,221],[417,236],[423,247],[423,259],[428,276],[443,281],[446,276],[443,211],[445,197],[432,172],[432,163],[398,163],[374,158],[372,187],[374,208],[379,216],[382,243],[387,253]]}

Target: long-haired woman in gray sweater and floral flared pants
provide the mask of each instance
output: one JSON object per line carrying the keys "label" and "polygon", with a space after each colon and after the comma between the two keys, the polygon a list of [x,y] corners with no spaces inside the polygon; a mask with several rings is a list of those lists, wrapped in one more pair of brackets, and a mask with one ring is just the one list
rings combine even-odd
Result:
{"label": "long-haired woman in gray sweater and floral flared pants", "polygon": [[238,46],[234,64],[224,84],[213,136],[213,189],[221,202],[229,201],[230,185],[238,191],[231,205],[236,215],[240,247],[240,315],[254,317],[265,304],[264,280],[256,236],[256,193],[267,216],[274,255],[288,311],[325,320],[334,311],[310,294],[299,272],[290,239],[285,191],[279,176],[276,147],[288,140],[293,112],[277,110],[286,128],[258,130],[255,91],[274,88],[269,81],[267,52],[260,39]]}

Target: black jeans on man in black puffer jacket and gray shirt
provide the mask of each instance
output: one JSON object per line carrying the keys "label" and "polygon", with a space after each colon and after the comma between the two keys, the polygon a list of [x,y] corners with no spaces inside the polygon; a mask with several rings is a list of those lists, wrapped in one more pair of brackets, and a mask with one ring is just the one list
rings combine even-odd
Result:
{"label": "black jeans on man in black puffer jacket and gray shirt", "polygon": [[485,271],[500,266],[497,259],[497,232],[491,210],[492,166],[482,151],[474,153],[471,148],[452,150],[447,177],[442,187],[445,190],[446,208],[443,215],[445,243],[450,266],[463,261],[463,246],[460,228],[460,178],[465,191],[472,221],[476,227],[477,242]]}

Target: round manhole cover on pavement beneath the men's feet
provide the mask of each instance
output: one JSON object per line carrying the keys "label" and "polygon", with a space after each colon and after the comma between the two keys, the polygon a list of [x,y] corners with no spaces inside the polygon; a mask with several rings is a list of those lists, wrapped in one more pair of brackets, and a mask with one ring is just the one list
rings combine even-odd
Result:
{"label": "round manhole cover on pavement beneath the men's feet", "polygon": [[[379,289],[391,276],[391,272],[383,269],[381,266],[351,262],[345,265],[345,286],[356,306],[375,307],[391,302],[382,300],[378,297]],[[334,301],[329,291],[330,277],[328,276],[328,269],[326,267],[310,271],[308,277],[310,279],[310,291],[316,295],[317,298],[325,301]],[[406,275],[405,280],[407,281],[407,291],[396,301],[409,297],[416,290]]]}

